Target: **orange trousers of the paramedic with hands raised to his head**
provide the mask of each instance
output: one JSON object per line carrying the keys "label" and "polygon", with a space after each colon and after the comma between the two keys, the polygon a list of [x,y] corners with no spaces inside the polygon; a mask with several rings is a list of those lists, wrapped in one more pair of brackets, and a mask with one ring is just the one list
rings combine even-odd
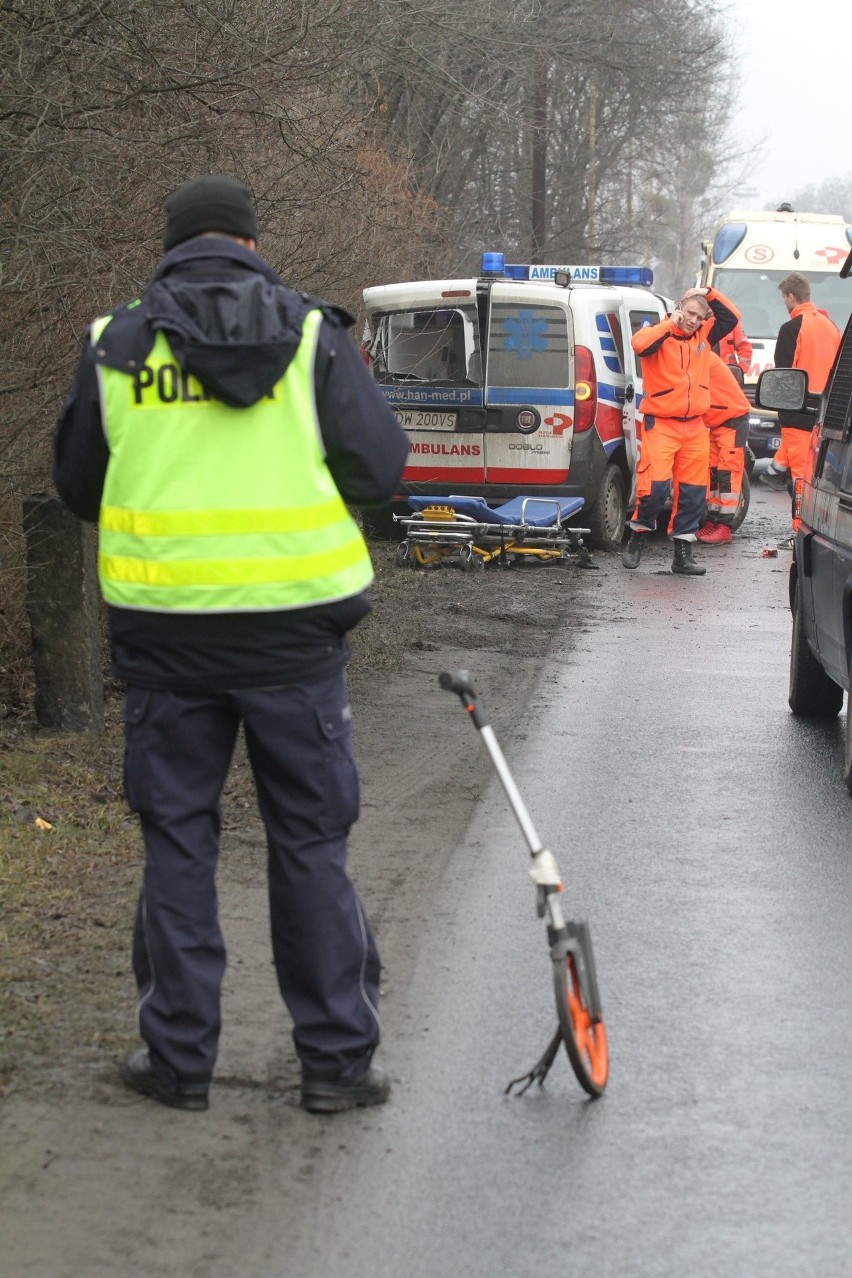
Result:
{"label": "orange trousers of the paramedic with hands raised to his head", "polygon": [[636,466],[636,509],[631,528],[653,530],[674,496],[669,537],[695,537],[704,515],[710,468],[709,431],[703,417],[677,422],[646,417]]}

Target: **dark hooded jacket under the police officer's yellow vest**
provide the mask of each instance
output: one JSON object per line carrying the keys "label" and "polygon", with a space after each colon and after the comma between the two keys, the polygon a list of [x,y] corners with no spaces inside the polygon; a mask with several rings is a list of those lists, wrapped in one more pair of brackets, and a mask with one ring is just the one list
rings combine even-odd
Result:
{"label": "dark hooded jacket under the police officer's yellow vest", "polygon": [[[351,317],[287,289],[257,253],[226,238],[179,244],[138,304],[120,307],[92,345],[89,332],[55,435],[54,482],[65,505],[96,523],[110,452],[97,364],[132,373],[162,330],[178,363],[216,399],[254,404],[282,376],[304,316],[321,307],[314,392],[328,469],[350,505],[390,501],[407,438],[346,334]],[[346,631],[368,611],[363,594],[312,608],[171,615],[110,607],[116,676],[176,691],[272,686],[322,677],[349,654]]]}

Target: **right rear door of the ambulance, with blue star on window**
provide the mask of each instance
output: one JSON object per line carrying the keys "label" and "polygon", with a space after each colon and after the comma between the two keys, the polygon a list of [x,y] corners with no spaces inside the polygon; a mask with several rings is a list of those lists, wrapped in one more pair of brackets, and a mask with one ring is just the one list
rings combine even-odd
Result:
{"label": "right rear door of the ambulance, with blue star on window", "polygon": [[567,483],[574,437],[574,325],[567,290],[491,286],[485,482],[524,493]]}

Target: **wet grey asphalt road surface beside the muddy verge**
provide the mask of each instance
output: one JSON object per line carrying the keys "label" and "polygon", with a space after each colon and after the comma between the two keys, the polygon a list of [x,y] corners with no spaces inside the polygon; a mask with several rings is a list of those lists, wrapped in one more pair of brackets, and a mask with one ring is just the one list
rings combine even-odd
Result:
{"label": "wet grey asphalt road surface beside the muddy verge", "polygon": [[567,911],[591,924],[605,1095],[562,1054],[542,1089],[503,1095],[554,1010],[494,777],[413,920],[415,978],[386,1011],[392,1103],[336,1120],[282,1272],[852,1273],[852,800],[843,717],[787,709],[789,556],[760,553],[786,509],[757,492],[750,537],[701,551],[703,580],[672,576],[662,543],[636,573],[582,574],[588,624],[524,722],[501,723],[478,677]]}

